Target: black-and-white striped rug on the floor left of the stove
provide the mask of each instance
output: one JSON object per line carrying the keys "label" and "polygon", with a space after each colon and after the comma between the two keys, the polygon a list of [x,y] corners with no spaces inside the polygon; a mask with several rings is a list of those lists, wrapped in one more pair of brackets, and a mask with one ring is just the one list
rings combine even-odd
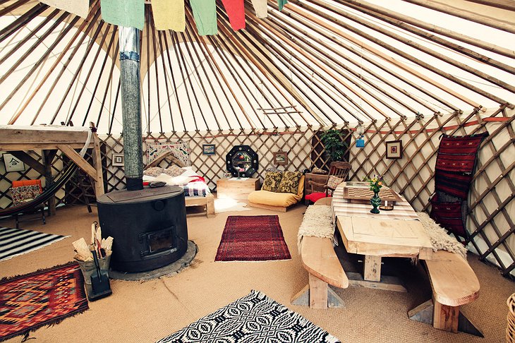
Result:
{"label": "black-and-white striped rug on the floor left of the stove", "polygon": [[49,246],[66,237],[69,236],[0,227],[0,261],[8,260],[14,256],[28,253],[29,251],[35,251],[44,246]]}

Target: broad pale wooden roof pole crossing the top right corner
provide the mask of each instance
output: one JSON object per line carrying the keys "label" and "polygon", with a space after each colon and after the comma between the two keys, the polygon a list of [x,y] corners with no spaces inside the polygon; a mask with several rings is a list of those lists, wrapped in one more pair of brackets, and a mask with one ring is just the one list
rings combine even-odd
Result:
{"label": "broad pale wooden roof pole crossing the top right corner", "polygon": [[435,1],[428,0],[404,0],[411,4],[416,4],[418,6],[423,6],[426,8],[430,8],[435,11],[439,11],[442,13],[450,14],[451,16],[464,18],[466,20],[473,21],[474,23],[479,23],[482,25],[490,26],[490,28],[496,28],[497,30],[502,30],[510,33],[515,33],[515,25],[512,23],[507,23],[505,21],[496,20],[494,18],[489,18],[485,16],[478,16],[477,13],[473,13],[470,11],[466,11],[464,8],[456,8],[449,5],[438,4]]}

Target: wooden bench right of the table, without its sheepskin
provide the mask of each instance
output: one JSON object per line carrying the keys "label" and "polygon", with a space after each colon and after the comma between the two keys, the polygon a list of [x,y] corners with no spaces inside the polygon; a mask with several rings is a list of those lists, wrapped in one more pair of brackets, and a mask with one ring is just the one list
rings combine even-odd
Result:
{"label": "wooden bench right of the table, without its sheepskin", "polygon": [[408,317],[450,332],[483,334],[460,313],[459,307],[479,296],[479,281],[471,266],[456,253],[437,251],[423,261],[431,282],[432,299],[408,312]]}

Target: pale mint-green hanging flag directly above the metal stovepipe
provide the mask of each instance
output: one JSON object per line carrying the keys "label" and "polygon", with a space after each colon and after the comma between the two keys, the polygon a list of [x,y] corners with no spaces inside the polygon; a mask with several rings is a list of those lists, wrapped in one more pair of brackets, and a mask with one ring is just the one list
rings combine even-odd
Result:
{"label": "pale mint-green hanging flag directly above the metal stovepipe", "polygon": [[106,23],[138,28],[145,25],[144,0],[101,0],[100,11]]}

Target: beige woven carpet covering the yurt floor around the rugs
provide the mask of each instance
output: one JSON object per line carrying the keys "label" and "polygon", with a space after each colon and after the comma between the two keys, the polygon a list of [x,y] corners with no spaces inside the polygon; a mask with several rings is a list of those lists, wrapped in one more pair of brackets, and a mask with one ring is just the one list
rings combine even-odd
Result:
{"label": "beige woven carpet covering the yurt floor around the rugs", "polygon": [[[245,214],[279,215],[284,240],[292,247],[296,246],[304,211],[305,206],[299,204],[279,214],[256,208]],[[444,332],[431,325],[409,320],[408,311],[430,299],[431,287],[420,267],[413,267],[409,261],[401,258],[384,258],[382,270],[387,275],[399,276],[408,293],[349,287],[335,289],[344,300],[345,308],[312,310],[291,305],[291,296],[308,284],[308,273],[302,267],[297,249],[291,249],[291,260],[280,263],[214,262],[227,217],[239,213],[225,212],[212,218],[205,215],[188,217],[188,239],[198,246],[198,253],[190,267],[176,275],[147,282],[113,279],[111,296],[90,303],[89,311],[66,318],[59,325],[41,327],[31,332],[30,338],[34,337],[34,342],[38,343],[156,342],[246,296],[251,289],[257,289],[342,342],[506,342],[506,301],[514,293],[515,283],[502,277],[496,267],[480,262],[476,255],[469,253],[468,263],[478,276],[480,295],[473,303],[462,306],[461,311],[483,331],[485,338]],[[55,216],[47,218],[44,230],[70,235],[71,239],[1,261],[0,277],[33,272],[72,260],[71,242],[80,237],[87,239],[94,220],[98,220],[95,207],[93,213],[88,213],[85,206],[59,208]],[[2,219],[0,226],[13,227],[13,222],[13,219]],[[34,225],[28,229],[36,227]],[[338,251],[341,251],[341,246],[337,248]],[[349,256],[341,255],[341,258],[348,260]],[[358,260],[363,260],[363,257],[356,256],[355,260],[349,261],[352,263],[344,265],[344,269],[360,271],[362,264]],[[351,270],[351,267],[356,270]],[[7,342],[19,343],[20,338],[8,339]]]}

